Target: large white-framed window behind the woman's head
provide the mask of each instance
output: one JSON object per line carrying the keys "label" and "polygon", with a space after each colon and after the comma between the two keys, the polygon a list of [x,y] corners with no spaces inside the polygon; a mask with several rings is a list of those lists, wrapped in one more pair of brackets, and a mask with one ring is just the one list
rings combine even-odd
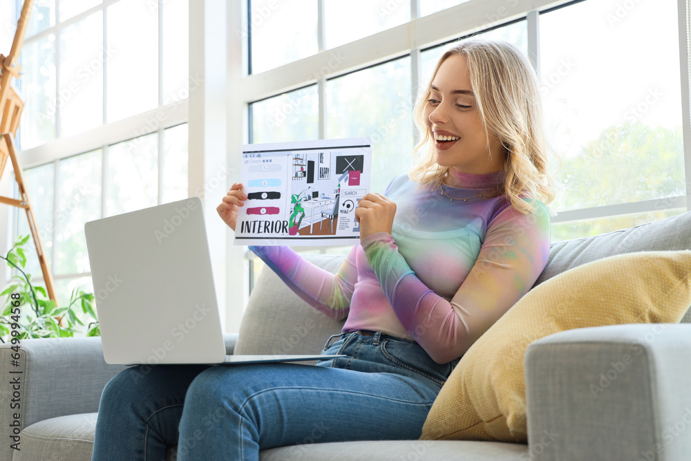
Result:
{"label": "large white-framed window behind the woman's head", "polygon": [[[413,103],[446,46],[466,37],[503,39],[538,66],[545,129],[556,153],[553,241],[679,214],[688,183],[680,1],[632,2],[631,8],[618,0],[544,1],[536,10],[520,10],[527,2],[515,1],[496,11],[480,0],[305,1],[311,48],[279,59],[274,70],[263,66],[261,100],[253,101],[252,91],[245,99],[249,139],[369,136],[372,189],[383,191],[410,167]],[[257,17],[261,2],[251,6]],[[290,24],[281,9],[270,19]],[[453,24],[457,32],[446,36]],[[252,63],[271,55],[266,48],[247,50]],[[252,83],[256,69],[249,66],[248,73],[247,88],[260,88]],[[281,91],[298,81],[302,89]],[[269,87],[274,95],[265,94]],[[258,135],[267,124],[276,129]]]}

